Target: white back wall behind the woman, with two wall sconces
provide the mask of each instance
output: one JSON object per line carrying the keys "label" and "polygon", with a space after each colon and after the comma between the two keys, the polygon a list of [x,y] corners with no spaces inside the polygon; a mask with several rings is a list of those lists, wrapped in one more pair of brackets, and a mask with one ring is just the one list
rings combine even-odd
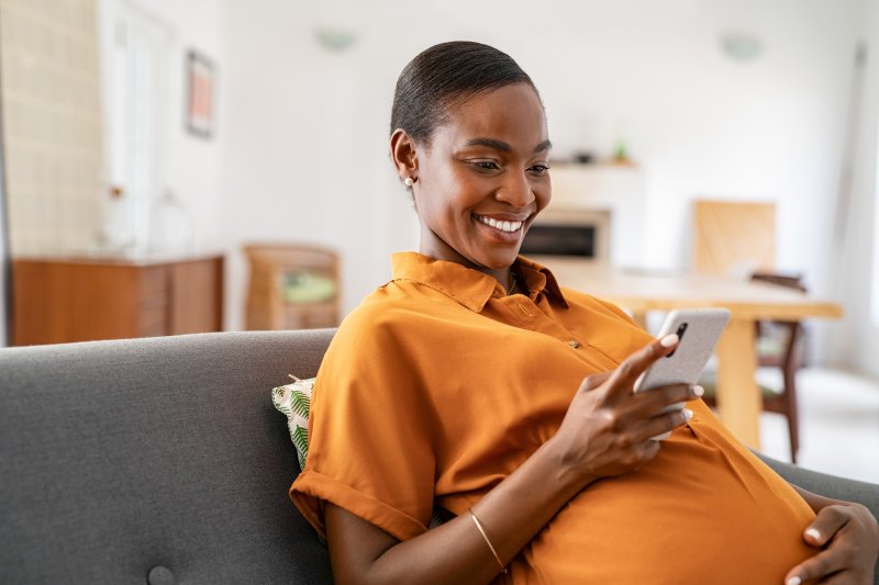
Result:
{"label": "white back wall behind the woman, with two wall sconces", "polygon": [[[226,234],[336,245],[344,306],[414,247],[405,194],[387,157],[396,77],[419,50],[469,38],[509,52],[534,78],[558,156],[610,154],[623,137],[647,178],[647,260],[688,265],[697,196],[779,205],[779,266],[827,293],[852,53],[860,0],[586,0],[535,7],[492,0],[226,0],[223,190]],[[351,29],[331,53],[320,26]],[[764,53],[735,61],[728,31]],[[230,274],[241,325],[244,268]]]}

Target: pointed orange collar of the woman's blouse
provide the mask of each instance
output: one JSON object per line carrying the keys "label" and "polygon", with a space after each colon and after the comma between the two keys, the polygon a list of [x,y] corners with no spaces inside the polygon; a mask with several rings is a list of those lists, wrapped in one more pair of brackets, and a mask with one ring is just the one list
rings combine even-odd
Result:
{"label": "pointed orange collar of the woman's blouse", "polygon": [[[391,263],[393,280],[407,280],[430,286],[475,313],[481,313],[492,296],[505,294],[503,288],[492,277],[457,262],[436,260],[418,252],[398,252],[391,257]],[[565,308],[568,307],[555,277],[546,267],[519,256],[512,269],[520,278],[520,284],[524,284],[528,290],[532,301],[546,292],[547,299],[555,300]]]}

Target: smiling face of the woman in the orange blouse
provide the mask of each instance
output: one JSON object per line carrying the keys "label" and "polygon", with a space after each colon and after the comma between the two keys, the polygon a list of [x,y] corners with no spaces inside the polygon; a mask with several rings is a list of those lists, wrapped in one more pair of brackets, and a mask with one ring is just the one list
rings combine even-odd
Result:
{"label": "smiling face of the woman in the orange blouse", "polygon": [[421,252],[498,274],[549,203],[549,139],[526,83],[479,94],[415,146]]}

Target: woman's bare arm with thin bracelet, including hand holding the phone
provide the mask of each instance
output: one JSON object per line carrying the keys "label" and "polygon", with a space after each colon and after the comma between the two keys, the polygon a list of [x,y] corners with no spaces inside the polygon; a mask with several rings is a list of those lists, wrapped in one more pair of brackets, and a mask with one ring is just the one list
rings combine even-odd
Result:
{"label": "woman's bare arm with thin bracelet, including hand holding the phone", "polygon": [[[696,397],[690,386],[632,392],[641,372],[672,347],[654,341],[613,372],[587,378],[555,437],[474,506],[502,563],[581,490],[649,461],[659,450],[650,437],[689,419],[680,412],[656,413]],[[488,583],[501,570],[469,514],[400,542],[332,504],[325,513],[337,583]]]}

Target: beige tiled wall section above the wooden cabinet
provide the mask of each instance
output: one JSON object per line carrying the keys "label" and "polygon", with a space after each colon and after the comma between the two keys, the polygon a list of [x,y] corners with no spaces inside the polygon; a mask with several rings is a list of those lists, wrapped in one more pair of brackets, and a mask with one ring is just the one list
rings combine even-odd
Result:
{"label": "beige tiled wall section above the wooden cabinet", "polygon": [[104,198],[97,0],[0,0],[12,252],[94,247]]}

